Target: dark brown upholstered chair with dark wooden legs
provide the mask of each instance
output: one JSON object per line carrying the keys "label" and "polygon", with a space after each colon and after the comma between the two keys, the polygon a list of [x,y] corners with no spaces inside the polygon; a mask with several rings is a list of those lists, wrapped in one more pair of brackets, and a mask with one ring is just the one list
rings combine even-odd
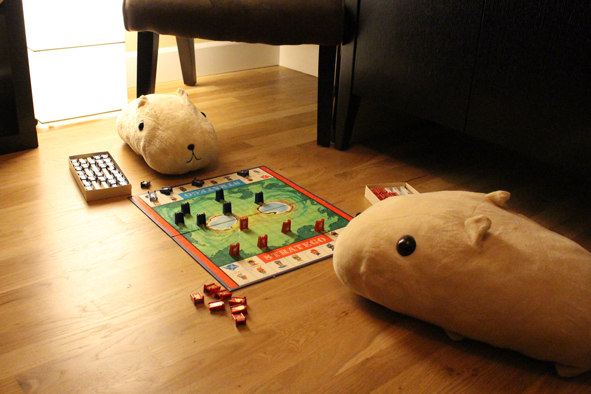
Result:
{"label": "dark brown upholstered chair with dark wooden legs", "polygon": [[137,96],[154,93],[158,34],[177,37],[183,80],[196,83],[194,38],[269,45],[320,45],[319,145],[332,139],[343,0],[124,0],[125,29],[138,31]]}

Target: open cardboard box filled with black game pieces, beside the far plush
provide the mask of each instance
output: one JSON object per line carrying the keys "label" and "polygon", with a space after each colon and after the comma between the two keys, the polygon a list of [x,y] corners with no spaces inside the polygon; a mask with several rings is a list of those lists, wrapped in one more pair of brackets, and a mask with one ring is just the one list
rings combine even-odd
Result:
{"label": "open cardboard box filled with black game pieces, beside the far plush", "polygon": [[109,152],[68,158],[70,171],[86,201],[131,194],[131,184]]}

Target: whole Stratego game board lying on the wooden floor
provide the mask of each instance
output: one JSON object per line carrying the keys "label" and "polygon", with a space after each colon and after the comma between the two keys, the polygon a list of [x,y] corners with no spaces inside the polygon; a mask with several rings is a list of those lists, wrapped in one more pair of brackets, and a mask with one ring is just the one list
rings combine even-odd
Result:
{"label": "whole Stratego game board lying on the wooden floor", "polygon": [[332,256],[352,219],[267,167],[129,199],[230,290]]}

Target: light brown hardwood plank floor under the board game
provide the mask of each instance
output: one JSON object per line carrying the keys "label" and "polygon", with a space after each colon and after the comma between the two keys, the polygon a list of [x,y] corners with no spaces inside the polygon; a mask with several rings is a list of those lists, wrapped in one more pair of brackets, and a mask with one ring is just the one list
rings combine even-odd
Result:
{"label": "light brown hardwood plank floor under the board game", "polygon": [[38,149],[1,156],[0,393],[591,392],[591,373],[561,379],[550,363],[455,343],[352,294],[331,259],[239,291],[250,313],[237,329],[227,312],[193,306],[189,293],[211,277],[184,250],[126,198],[86,203],[68,170],[69,155],[109,151],[139,194],[143,180],[160,187],[267,165],[353,215],[369,206],[371,183],[508,190],[514,210],[591,249],[583,178],[424,125],[322,148],[316,82],[269,67],[186,87],[223,146],[202,172],[155,173],[115,118],[40,130]]}

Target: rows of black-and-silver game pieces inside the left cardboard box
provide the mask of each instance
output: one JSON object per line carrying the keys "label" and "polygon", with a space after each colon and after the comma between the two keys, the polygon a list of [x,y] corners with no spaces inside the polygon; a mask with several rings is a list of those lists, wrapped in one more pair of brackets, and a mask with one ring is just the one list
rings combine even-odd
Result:
{"label": "rows of black-and-silver game pieces inside the left cardboard box", "polygon": [[86,190],[98,190],[129,184],[125,176],[117,170],[108,154],[73,158],[70,161]]}

